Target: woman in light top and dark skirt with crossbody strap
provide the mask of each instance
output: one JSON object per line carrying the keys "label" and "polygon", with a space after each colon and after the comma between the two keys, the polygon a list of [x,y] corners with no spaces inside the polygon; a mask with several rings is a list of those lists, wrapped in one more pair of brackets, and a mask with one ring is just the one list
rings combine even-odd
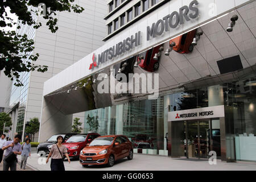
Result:
{"label": "woman in light top and dark skirt with crossbody strap", "polygon": [[51,159],[51,171],[65,171],[64,167],[64,157],[68,158],[68,162],[70,163],[70,159],[68,157],[67,148],[62,144],[64,142],[63,137],[60,135],[57,137],[57,143],[53,144],[51,151],[49,152],[48,158],[46,159],[46,163],[50,157]]}

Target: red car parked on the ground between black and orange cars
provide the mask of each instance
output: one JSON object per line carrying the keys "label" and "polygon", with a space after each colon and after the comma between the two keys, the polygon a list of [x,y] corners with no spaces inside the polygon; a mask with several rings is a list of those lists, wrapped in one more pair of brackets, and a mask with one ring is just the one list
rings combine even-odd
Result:
{"label": "red car parked on the ground between black and orange cars", "polygon": [[89,133],[89,134],[78,134],[73,135],[64,144],[67,147],[69,158],[79,158],[80,151],[86,147],[86,144],[92,142],[94,138],[99,137],[100,134]]}

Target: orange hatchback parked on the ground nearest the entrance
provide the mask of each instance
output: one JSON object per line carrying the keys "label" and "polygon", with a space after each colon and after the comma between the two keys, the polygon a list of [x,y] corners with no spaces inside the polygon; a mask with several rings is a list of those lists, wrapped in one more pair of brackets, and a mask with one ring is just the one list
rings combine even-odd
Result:
{"label": "orange hatchback parked on the ground nearest the entrance", "polygon": [[106,135],[94,139],[80,152],[80,164],[108,164],[112,167],[115,160],[133,159],[133,145],[125,135]]}

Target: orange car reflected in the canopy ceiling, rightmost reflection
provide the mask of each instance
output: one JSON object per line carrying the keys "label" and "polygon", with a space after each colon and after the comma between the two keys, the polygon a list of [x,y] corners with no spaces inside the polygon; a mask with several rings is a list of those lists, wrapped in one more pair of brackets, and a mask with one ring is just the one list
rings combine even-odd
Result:
{"label": "orange car reflected in the canopy ceiling, rightmost reflection", "polygon": [[178,53],[192,52],[194,48],[192,42],[195,36],[196,30],[192,30],[186,34],[180,35],[177,38],[170,40],[170,46],[172,42],[175,42],[176,46],[172,47],[174,51]]}

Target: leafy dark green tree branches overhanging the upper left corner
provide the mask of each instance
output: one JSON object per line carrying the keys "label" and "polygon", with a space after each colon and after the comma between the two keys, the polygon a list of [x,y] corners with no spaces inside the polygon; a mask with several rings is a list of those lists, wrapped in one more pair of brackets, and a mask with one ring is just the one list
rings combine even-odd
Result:
{"label": "leafy dark green tree branches overhanging the upper left corner", "polygon": [[[57,18],[53,17],[58,11],[73,10],[75,13],[81,13],[84,8],[76,5],[75,0],[23,0],[23,1],[0,1],[0,27],[13,27],[16,23],[7,14],[6,9],[10,9],[10,13],[18,16],[19,23],[27,24],[35,29],[42,26],[41,22],[33,19],[33,14],[43,14],[40,9],[30,10],[28,7],[39,6],[39,3],[44,3],[46,13],[43,18],[48,20],[46,25],[51,32],[55,33],[58,30]],[[20,29],[18,25],[16,27]],[[34,53],[34,40],[28,39],[27,35],[18,35],[15,31],[2,31],[0,30],[0,71],[4,70],[6,76],[11,80],[15,80],[14,85],[23,86],[19,80],[20,73],[38,71],[46,72],[48,67],[46,65],[36,65],[35,61],[38,59],[39,54]]]}

